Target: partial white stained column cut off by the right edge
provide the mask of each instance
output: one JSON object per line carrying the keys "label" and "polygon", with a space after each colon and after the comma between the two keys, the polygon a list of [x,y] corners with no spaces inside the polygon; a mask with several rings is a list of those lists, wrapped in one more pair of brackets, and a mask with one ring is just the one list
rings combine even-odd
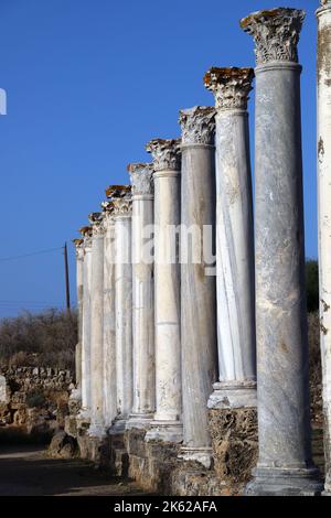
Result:
{"label": "partial white stained column cut off by the right edge", "polygon": [[320,327],[323,370],[325,487],[331,496],[331,1],[321,1],[318,20],[318,212]]}

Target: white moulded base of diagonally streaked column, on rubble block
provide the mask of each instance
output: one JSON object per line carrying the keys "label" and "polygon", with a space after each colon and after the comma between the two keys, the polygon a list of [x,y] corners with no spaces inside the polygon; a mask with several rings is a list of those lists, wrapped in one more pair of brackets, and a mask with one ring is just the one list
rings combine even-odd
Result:
{"label": "white moulded base of diagonally streaked column, on rubble block", "polygon": [[217,381],[213,389],[209,409],[257,407],[256,381]]}

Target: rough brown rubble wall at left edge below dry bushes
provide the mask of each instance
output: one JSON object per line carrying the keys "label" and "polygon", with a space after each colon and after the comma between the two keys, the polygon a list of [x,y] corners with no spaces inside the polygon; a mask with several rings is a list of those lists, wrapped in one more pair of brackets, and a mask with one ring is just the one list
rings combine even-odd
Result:
{"label": "rough brown rubble wall at left edge below dry bushes", "polygon": [[0,430],[52,436],[64,427],[74,388],[68,370],[49,367],[0,369]]}

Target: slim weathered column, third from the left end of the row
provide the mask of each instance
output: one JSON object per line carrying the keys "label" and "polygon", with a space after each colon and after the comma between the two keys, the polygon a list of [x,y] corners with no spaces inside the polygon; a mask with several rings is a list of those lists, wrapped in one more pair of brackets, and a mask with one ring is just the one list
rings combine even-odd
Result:
{"label": "slim weathered column, third from the left end of the row", "polygon": [[92,416],[88,434],[100,439],[104,422],[104,225],[100,213],[88,216],[92,224],[90,283],[90,388]]}

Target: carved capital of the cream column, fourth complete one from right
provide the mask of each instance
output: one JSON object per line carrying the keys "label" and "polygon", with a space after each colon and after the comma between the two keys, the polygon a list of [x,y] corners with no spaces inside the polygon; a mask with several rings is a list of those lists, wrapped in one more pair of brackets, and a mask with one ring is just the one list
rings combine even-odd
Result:
{"label": "carved capital of the cream column, fourth complete one from right", "polygon": [[151,140],[146,145],[146,151],[153,158],[154,171],[181,169],[181,139]]}

